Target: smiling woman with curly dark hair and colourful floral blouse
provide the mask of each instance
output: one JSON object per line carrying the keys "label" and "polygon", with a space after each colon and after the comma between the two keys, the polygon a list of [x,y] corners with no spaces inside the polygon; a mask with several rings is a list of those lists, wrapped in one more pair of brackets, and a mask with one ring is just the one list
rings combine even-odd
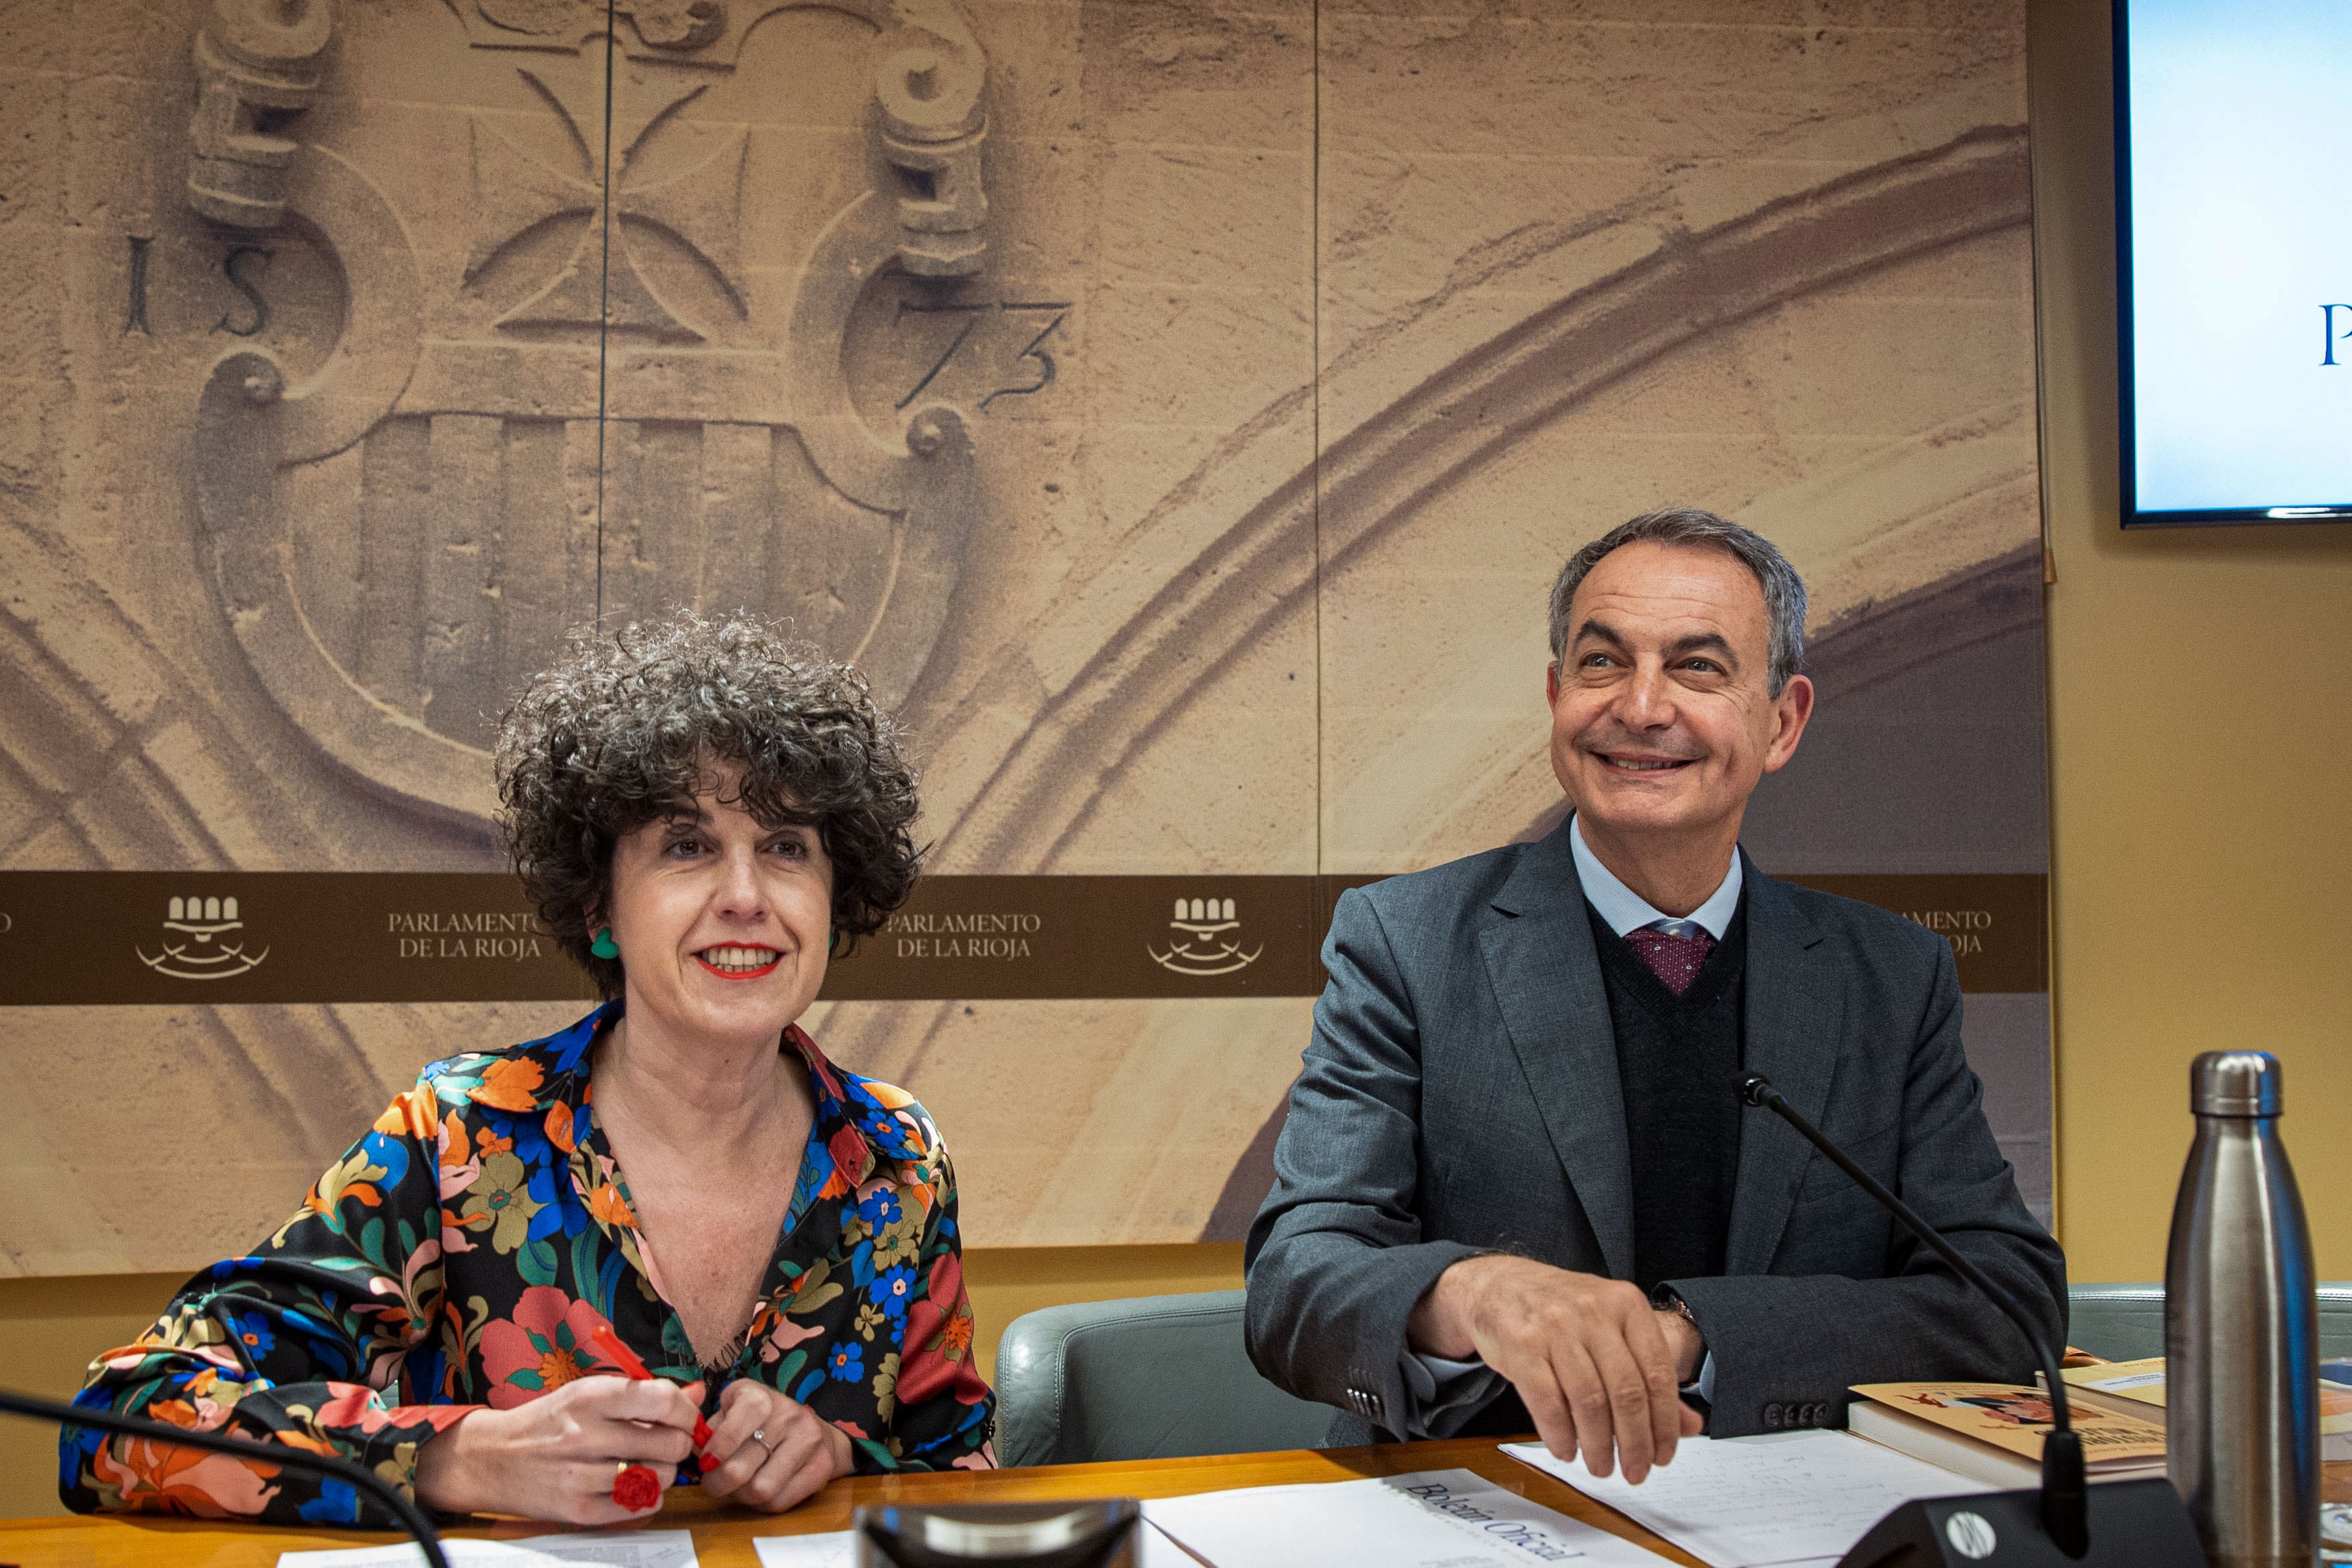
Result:
{"label": "smiling woman with curly dark hair and colourful floral blouse", "polygon": [[[866,684],[680,614],[536,677],[496,769],[515,870],[604,1004],[426,1067],[80,1403],[569,1523],[673,1481],[788,1509],[849,1472],[993,1465],[938,1128],[795,1023],[915,884],[915,771]],[[85,1512],[381,1523],[289,1469],[61,1448]]]}

